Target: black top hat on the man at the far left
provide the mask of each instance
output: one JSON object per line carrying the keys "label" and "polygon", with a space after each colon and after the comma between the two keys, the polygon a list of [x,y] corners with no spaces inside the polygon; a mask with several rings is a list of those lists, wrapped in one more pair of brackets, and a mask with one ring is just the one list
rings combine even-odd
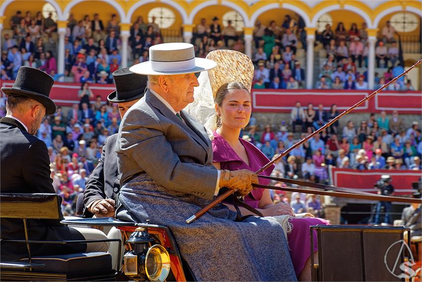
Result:
{"label": "black top hat on the man at the far left", "polygon": [[19,94],[27,96],[42,103],[46,107],[46,114],[56,112],[56,104],[50,99],[50,91],[54,80],[43,71],[31,67],[20,67],[12,87],[2,87],[6,94]]}

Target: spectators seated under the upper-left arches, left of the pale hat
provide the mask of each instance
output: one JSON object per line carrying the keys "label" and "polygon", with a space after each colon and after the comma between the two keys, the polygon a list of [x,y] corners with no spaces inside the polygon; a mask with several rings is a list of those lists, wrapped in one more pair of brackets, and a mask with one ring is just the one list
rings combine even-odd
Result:
{"label": "spectators seated under the upper-left arches, left of the pale hat", "polygon": [[[57,70],[57,24],[52,13],[44,18],[41,12],[36,17],[26,12],[23,17],[17,11],[10,20],[13,35],[4,34],[1,57],[1,79],[16,78],[20,66],[31,66],[45,71],[54,80],[72,77],[75,83],[113,83],[112,73],[120,68],[120,25],[117,15],[113,14],[104,25],[96,13],[91,18],[85,15],[76,20],[72,14],[68,19],[65,35],[65,73]],[[130,30],[130,50],[134,64],[148,60],[149,47],[162,43],[161,33],[152,21],[144,23],[139,16]]]}

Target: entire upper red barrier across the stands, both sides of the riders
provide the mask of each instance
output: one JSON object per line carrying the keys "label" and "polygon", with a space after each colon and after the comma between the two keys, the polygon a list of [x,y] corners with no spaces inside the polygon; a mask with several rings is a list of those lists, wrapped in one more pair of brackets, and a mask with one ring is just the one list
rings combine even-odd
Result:
{"label": "entire upper red barrier across the stands, both sides of the riders", "polygon": [[[1,86],[10,87],[13,81],[1,81]],[[103,101],[107,95],[115,90],[114,84],[90,84],[94,97],[100,95]],[[77,93],[80,89],[78,83],[59,83],[53,86],[50,96],[57,105],[70,106],[78,103]],[[372,93],[371,91],[338,91],[338,90],[252,90],[253,110],[255,112],[290,112],[295,102],[301,102],[302,106],[313,103],[318,107],[319,103],[329,110],[332,104],[337,104],[339,111],[343,111],[363,97]],[[422,93],[418,91],[394,92],[383,91],[376,94],[370,100],[358,106],[355,112],[380,112],[381,110],[396,109],[400,113],[422,113]]]}

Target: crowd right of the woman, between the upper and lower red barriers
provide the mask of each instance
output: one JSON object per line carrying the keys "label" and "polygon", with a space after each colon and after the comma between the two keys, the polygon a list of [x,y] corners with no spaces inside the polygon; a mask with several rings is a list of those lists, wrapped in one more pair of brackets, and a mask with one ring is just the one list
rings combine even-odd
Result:
{"label": "crowd right of the woman, between the upper and lower red barriers", "polygon": [[[273,131],[270,125],[259,133],[255,124],[244,136],[269,158],[278,156],[300,139],[339,115],[336,105],[325,111],[322,104],[303,108],[300,102],[291,110],[290,126],[282,122]],[[254,119],[252,119],[254,123]],[[298,128],[296,134],[293,133]],[[295,138],[296,137],[296,138]],[[368,120],[355,125],[352,120],[343,128],[334,123],[328,130],[309,139],[276,163],[274,173],[289,179],[328,183],[328,166],[356,170],[420,170],[422,135],[418,121],[405,124],[397,110],[387,116],[370,114]]]}

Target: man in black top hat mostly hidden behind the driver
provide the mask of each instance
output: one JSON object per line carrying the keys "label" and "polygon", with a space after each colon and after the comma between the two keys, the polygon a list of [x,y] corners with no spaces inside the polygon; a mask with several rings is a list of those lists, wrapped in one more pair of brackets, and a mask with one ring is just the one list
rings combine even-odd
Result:
{"label": "man in black top hat mostly hidden behind the driver", "polygon": [[[116,91],[109,94],[110,102],[118,103],[120,116],[135,104],[145,92],[147,77],[120,69],[113,73]],[[114,217],[114,206],[120,184],[117,176],[117,134],[109,136],[103,146],[97,167],[89,176],[83,192],[83,216]]]}

